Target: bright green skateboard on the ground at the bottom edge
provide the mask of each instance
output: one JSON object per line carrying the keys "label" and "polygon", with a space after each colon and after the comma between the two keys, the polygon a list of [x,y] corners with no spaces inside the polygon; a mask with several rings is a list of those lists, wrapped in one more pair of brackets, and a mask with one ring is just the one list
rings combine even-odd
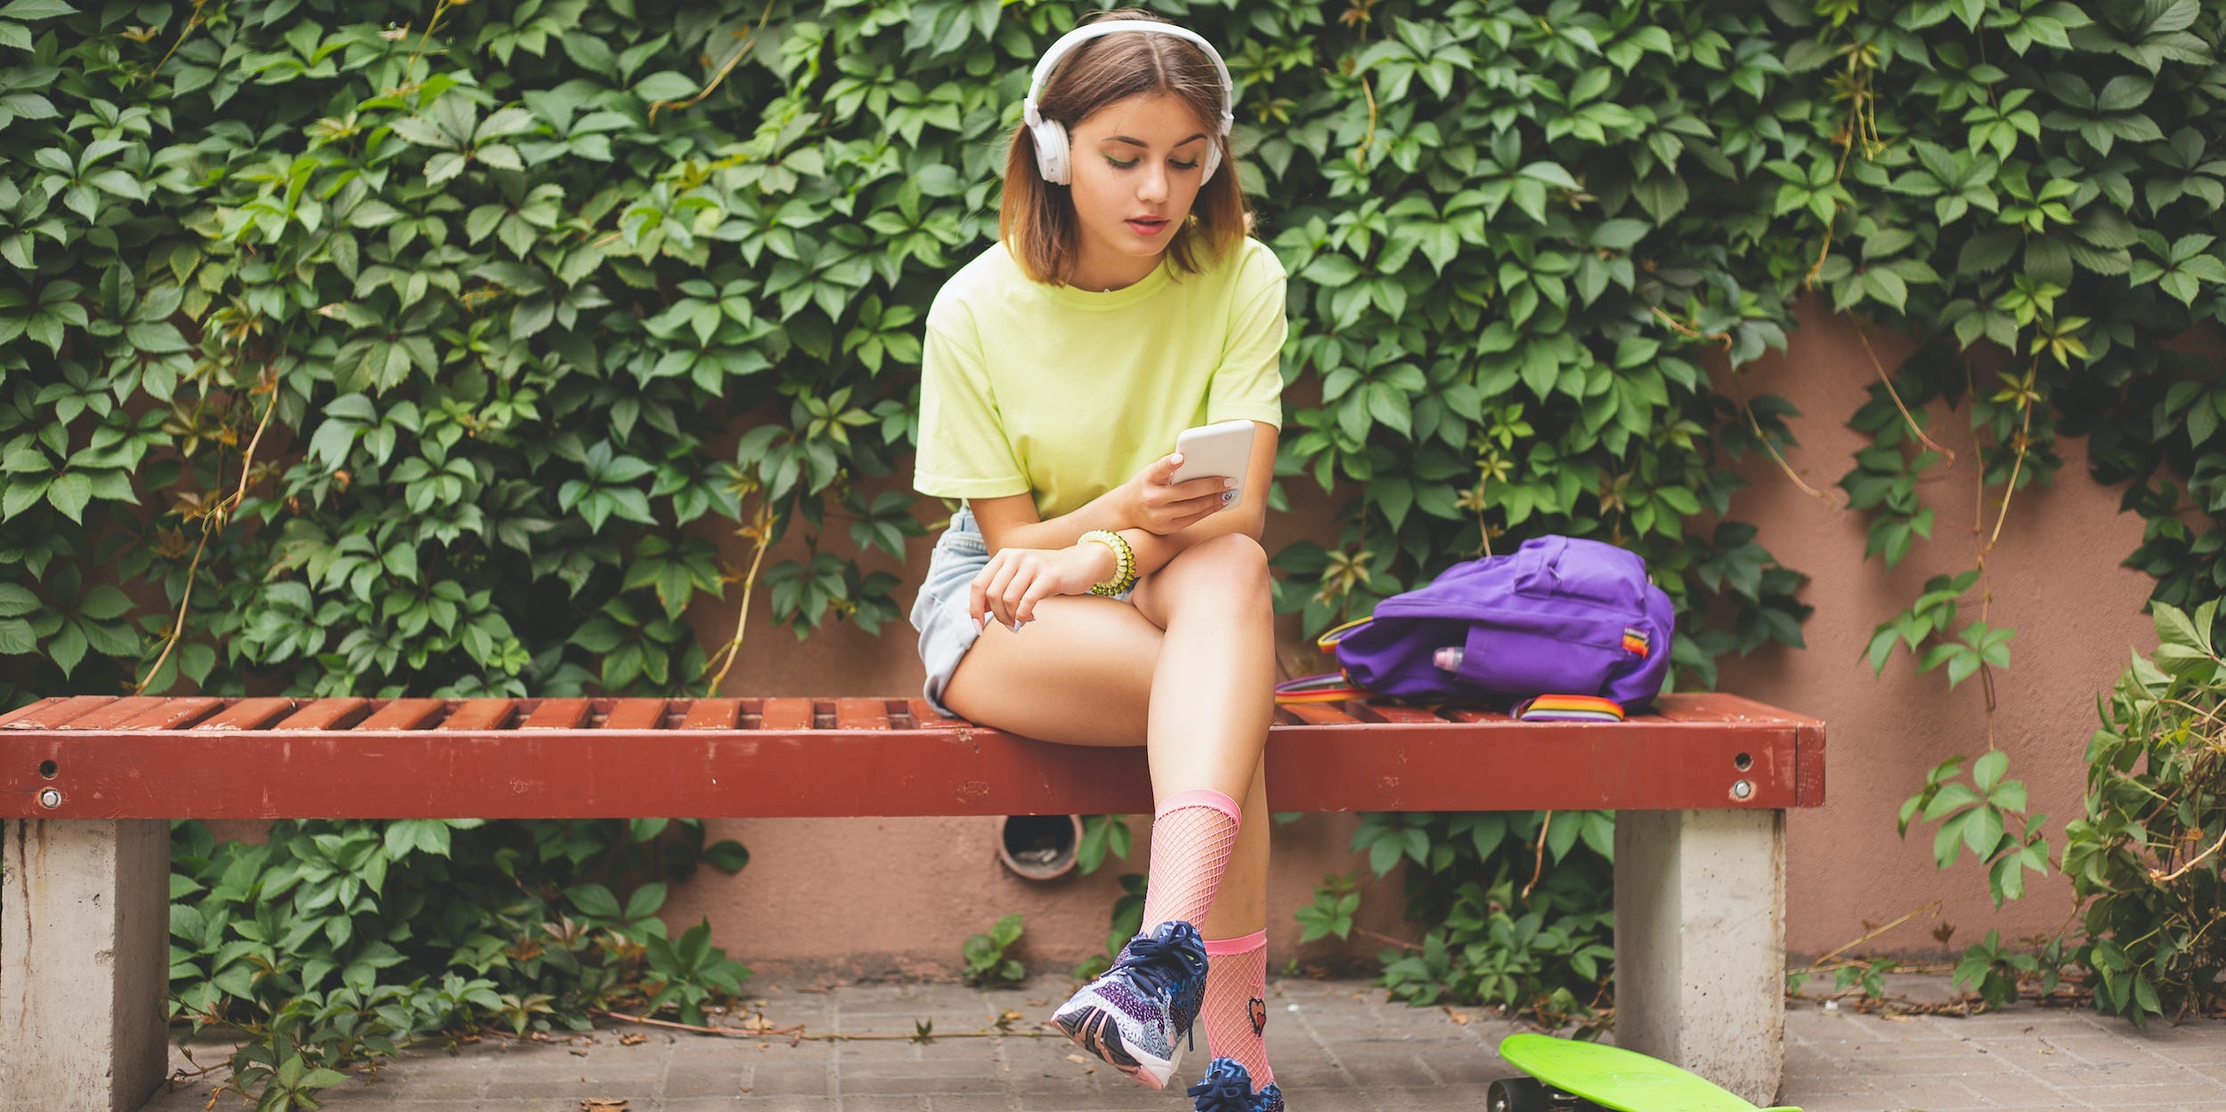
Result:
{"label": "bright green skateboard on the ground at the bottom edge", "polygon": [[1696,1074],[1612,1045],[1509,1034],[1500,1039],[1500,1059],[1531,1076],[1494,1081],[1491,1112],[1756,1112]]}

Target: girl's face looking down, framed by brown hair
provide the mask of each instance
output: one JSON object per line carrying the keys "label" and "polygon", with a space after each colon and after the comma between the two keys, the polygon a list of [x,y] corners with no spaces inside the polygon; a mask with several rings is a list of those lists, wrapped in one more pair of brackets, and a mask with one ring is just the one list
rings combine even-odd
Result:
{"label": "girl's face looking down, framed by brown hair", "polygon": [[1077,285],[1111,289],[1160,265],[1198,200],[1209,142],[1206,125],[1175,93],[1115,100],[1068,133]]}

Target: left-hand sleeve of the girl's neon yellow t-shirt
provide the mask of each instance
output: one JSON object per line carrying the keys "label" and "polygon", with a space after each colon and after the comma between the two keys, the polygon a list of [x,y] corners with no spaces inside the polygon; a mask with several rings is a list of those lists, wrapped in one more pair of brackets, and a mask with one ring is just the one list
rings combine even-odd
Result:
{"label": "left-hand sleeve of the girl's neon yellow t-shirt", "polygon": [[1013,458],[982,351],[928,314],[919,351],[919,454],[913,489],[937,498],[1004,498],[1028,494]]}

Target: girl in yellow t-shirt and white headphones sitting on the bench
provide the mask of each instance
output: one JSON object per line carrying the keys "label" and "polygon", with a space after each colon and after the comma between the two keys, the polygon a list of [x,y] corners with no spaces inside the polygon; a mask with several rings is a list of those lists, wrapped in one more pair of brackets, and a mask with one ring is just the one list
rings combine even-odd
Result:
{"label": "girl in yellow t-shirt and white headphones sitting on the bench", "polygon": [[[1280,1112],[1267,1065],[1273,632],[1260,527],[1282,425],[1284,274],[1247,236],[1231,85],[1204,38],[1113,11],[1035,67],[997,245],[928,309],[922,494],[962,498],[913,605],[939,709],[1146,745],[1144,930],[1053,1019],[1198,1110]],[[1175,434],[1253,420],[1238,500],[1173,483]]]}

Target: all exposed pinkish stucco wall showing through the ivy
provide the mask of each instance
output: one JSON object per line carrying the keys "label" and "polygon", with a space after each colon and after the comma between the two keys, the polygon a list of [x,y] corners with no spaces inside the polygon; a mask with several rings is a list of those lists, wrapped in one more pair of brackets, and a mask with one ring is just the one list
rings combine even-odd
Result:
{"label": "all exposed pinkish stucco wall showing through the ivy", "polygon": [[[1792,467],[1812,485],[1832,489],[1863,445],[1845,429],[1874,380],[1870,358],[1843,318],[1810,305],[1783,356],[1723,371],[1734,396],[1781,394],[1805,416],[1796,418],[1799,449]],[[1908,345],[1872,336],[1885,367]],[[1921,583],[1970,565],[1977,552],[1972,454],[1961,411],[1934,414],[1934,436],[1959,451],[1954,467],[1937,471],[1925,498],[1937,507],[1937,529],[1901,567],[1888,572],[1863,560],[1859,514],[1799,492],[1774,465],[1747,467],[1754,485],[1739,494],[1734,514],[1761,525],[1761,543],[1812,578],[1803,598],[1816,607],[1805,627],[1805,652],[1763,652],[1727,661],[1723,687],[1801,709],[1830,723],[1830,805],[1799,812],[1787,847],[1787,945],[1819,954],[1928,901],[1943,901],[1937,919],[1921,919],[1877,941],[1870,950],[1937,952],[1930,930],[1952,923],[1952,945],[1977,941],[1990,927],[2003,936],[2055,930],[2070,907],[2059,878],[1994,912],[1983,876],[1966,865],[1934,874],[1930,836],[1901,843],[1894,812],[1923,781],[1923,770],[1950,754],[1988,745],[1983,696],[1977,681],[1954,692],[1943,674],[1914,672],[1903,656],[1872,678],[1861,654],[1870,629],[1908,605]],[[2066,443],[2055,489],[2035,487],[2010,507],[1992,572],[1992,625],[2017,629],[2012,667],[1997,676],[1994,743],[2010,752],[2012,776],[2032,787],[2032,805],[2055,825],[2077,812],[2081,749],[2095,725],[2095,694],[2108,687],[2128,647],[2155,645],[2139,607],[2150,580],[2119,563],[2139,545],[2141,523],[2117,514],[2119,489],[2086,476],[2084,443]],[[1333,505],[1311,494],[1311,483],[1289,483],[1293,514],[1271,523],[1269,547],[1298,536],[1327,538]],[[1988,518],[1992,523],[1992,518]],[[728,556],[741,543],[723,538]],[[917,583],[926,543],[915,543],[915,565],[881,567]],[[790,552],[792,554],[792,552]],[[908,605],[910,589],[899,592]],[[735,625],[735,603],[690,614],[706,643],[721,643]],[[764,596],[752,609],[764,614]],[[1287,645],[1291,667],[1313,669],[1307,652]],[[750,634],[730,694],[908,694],[919,685],[910,627],[897,620],[881,636],[841,625],[797,643],[788,632],[759,625]],[[1365,870],[1345,852],[1351,816],[1307,816],[1278,830],[1271,878],[1271,961],[1331,954],[1365,956],[1376,941],[1296,947],[1291,912],[1311,898],[1327,872]],[[1144,863],[1144,825],[1137,854]],[[706,876],[674,894],[674,923],[710,916],[715,939],[759,972],[953,972],[959,945],[999,914],[1026,914],[1024,954],[1035,965],[1064,967],[1097,952],[1106,914],[1117,894],[1113,874],[1064,878],[1048,885],[1020,881],[995,858],[991,818],[830,818],[730,821],[715,836],[739,836],[752,863],[739,876]],[[1398,923],[1398,887],[1367,890],[1362,925],[1414,936]]]}

